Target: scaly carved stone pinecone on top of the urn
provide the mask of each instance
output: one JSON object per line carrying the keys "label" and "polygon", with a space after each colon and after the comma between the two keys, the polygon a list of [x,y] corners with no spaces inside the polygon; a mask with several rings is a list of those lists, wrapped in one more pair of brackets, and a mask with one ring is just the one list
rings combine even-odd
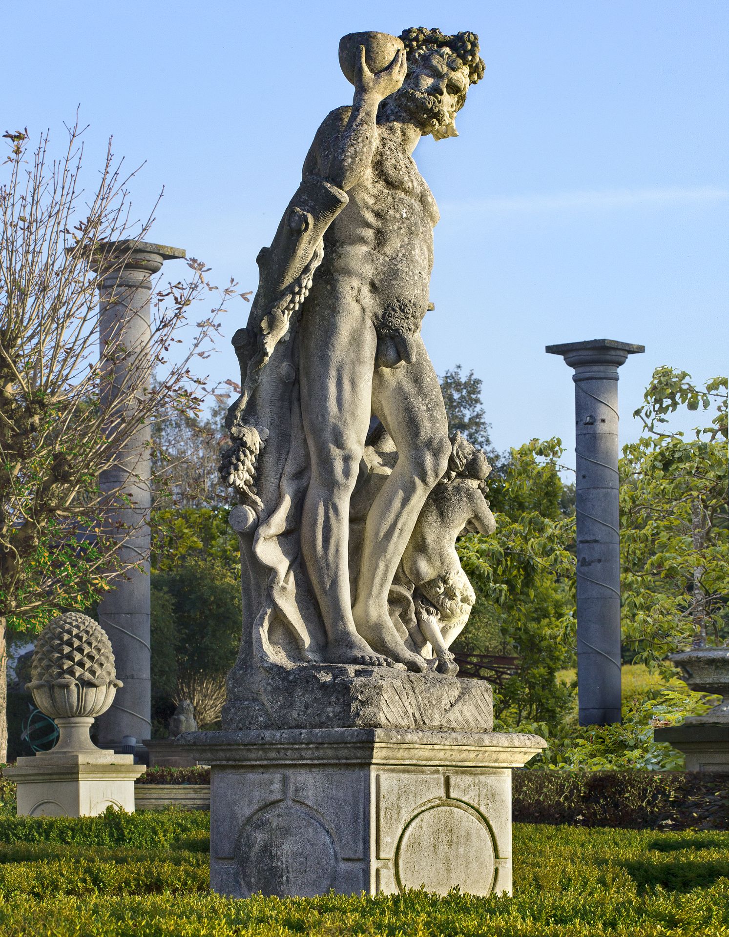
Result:
{"label": "scaly carved stone pinecone on top of the urn", "polygon": [[40,632],[31,676],[34,682],[72,679],[82,686],[106,686],[116,678],[112,643],[93,618],[67,612]]}

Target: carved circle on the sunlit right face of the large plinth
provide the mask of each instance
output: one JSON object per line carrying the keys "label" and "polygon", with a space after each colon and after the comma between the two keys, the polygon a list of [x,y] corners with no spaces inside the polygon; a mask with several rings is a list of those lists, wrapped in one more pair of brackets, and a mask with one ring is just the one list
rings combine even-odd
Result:
{"label": "carved circle on the sunlit right face of the large plinth", "polygon": [[394,857],[400,891],[420,888],[447,894],[488,895],[494,886],[496,856],[488,826],[458,801],[441,801],[417,813],[405,826]]}

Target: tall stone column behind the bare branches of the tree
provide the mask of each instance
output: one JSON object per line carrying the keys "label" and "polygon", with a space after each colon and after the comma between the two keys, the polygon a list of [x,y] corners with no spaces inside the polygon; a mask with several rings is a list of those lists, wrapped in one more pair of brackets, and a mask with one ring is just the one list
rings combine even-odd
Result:
{"label": "tall stone column behind the bare branches of the tree", "polygon": [[[140,350],[131,355],[132,364],[141,374],[134,384],[149,385],[151,363],[148,353],[150,331],[150,295],[152,275],[165,260],[184,258],[177,247],[147,244],[142,241],[119,241],[114,245],[117,257],[124,262],[107,275],[99,267],[99,352],[106,380],[102,386],[105,403],[133,409],[135,402],[128,394],[127,368],[129,356],[106,362],[105,353],[114,349]],[[126,359],[126,360],[125,360]],[[120,549],[125,562],[141,560],[141,569],[131,570],[126,579],[118,579],[110,592],[99,602],[98,619],[112,641],[116,671],[123,681],[112,707],[98,719],[98,740],[101,746],[118,747],[123,736],[148,738],[150,721],[150,645],[149,645],[149,511],[151,506],[149,477],[149,425],[141,426],[120,448],[113,468],[102,472],[101,490],[110,494],[124,492],[128,503],[117,502],[107,516],[109,528],[119,529],[126,543]],[[131,536],[128,530],[133,530]]]}

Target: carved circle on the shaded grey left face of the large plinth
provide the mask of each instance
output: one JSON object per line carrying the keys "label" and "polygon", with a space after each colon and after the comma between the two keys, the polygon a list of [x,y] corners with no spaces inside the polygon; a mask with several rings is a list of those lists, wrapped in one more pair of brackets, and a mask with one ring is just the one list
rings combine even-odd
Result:
{"label": "carved circle on the shaded grey left face of the large plinth", "polygon": [[251,893],[313,898],[335,883],[335,844],[311,813],[279,803],[246,823],[235,850]]}

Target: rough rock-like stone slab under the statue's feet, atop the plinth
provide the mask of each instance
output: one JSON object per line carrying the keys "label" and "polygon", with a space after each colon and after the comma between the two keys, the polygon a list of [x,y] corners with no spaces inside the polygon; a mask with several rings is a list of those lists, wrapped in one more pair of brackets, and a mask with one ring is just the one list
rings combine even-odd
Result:
{"label": "rough rock-like stone slab under the statue's feet, atop the plinth", "polygon": [[268,664],[228,678],[223,729],[447,729],[488,732],[494,724],[484,680],[409,674],[394,667]]}

